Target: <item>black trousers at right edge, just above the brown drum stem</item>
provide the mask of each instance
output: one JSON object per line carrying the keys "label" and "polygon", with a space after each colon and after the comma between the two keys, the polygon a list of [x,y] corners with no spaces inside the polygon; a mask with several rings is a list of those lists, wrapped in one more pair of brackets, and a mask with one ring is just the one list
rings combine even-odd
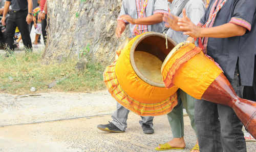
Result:
{"label": "black trousers at right edge, just above the brown drum stem", "polygon": [[252,86],[244,86],[243,98],[256,101],[256,56],[254,59],[254,73]]}

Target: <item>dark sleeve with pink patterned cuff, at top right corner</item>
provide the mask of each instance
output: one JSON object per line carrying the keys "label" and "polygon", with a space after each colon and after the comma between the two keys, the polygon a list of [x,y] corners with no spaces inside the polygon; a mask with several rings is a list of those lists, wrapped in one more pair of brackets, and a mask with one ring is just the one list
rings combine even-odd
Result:
{"label": "dark sleeve with pink patterned cuff, at top right corner", "polygon": [[229,23],[251,30],[253,15],[256,9],[255,0],[237,0],[233,8],[233,15]]}

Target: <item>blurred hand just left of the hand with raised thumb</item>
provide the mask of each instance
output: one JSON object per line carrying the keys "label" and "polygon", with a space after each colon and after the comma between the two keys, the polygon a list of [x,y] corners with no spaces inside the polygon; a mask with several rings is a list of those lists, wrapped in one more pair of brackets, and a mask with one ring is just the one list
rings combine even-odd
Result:
{"label": "blurred hand just left of the hand with raised thumb", "polygon": [[181,31],[180,27],[178,26],[178,19],[180,17],[173,15],[173,14],[164,14],[163,16],[163,21],[164,21],[164,25],[167,28],[172,28],[175,31]]}

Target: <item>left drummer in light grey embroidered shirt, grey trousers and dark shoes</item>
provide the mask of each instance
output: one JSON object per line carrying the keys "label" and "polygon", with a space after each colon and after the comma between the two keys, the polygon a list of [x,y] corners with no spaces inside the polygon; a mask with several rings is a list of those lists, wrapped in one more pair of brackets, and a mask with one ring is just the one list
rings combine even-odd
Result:
{"label": "left drummer in light grey embroidered shirt, grey trousers and dark shoes", "polygon": [[[121,34],[129,24],[130,37],[145,32],[162,32],[164,25],[162,17],[164,13],[168,13],[166,0],[123,0],[120,14],[117,19],[116,36]],[[139,16],[139,17],[138,17]],[[127,127],[126,120],[129,110],[117,102],[117,109],[112,115],[112,122],[109,124],[100,124],[97,127],[105,132],[123,133]],[[153,118],[142,117],[139,121],[144,134],[153,134]]]}

